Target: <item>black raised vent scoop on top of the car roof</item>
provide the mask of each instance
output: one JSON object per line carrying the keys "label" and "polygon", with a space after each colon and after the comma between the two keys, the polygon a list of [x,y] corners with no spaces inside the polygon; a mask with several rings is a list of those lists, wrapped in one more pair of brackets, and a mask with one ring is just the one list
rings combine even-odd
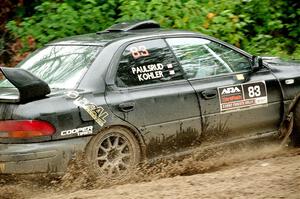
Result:
{"label": "black raised vent scoop on top of the car roof", "polygon": [[130,30],[142,30],[148,28],[160,28],[160,25],[153,20],[123,22],[112,25],[104,30],[104,32],[126,32]]}

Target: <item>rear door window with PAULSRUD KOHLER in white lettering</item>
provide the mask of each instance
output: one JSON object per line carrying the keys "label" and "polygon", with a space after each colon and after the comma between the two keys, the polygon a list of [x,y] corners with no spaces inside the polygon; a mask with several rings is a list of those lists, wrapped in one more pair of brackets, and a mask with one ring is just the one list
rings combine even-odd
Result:
{"label": "rear door window with PAULSRUD KOHLER in white lettering", "polygon": [[119,62],[116,84],[129,87],[179,79],[183,79],[183,71],[165,41],[157,39],[127,46]]}

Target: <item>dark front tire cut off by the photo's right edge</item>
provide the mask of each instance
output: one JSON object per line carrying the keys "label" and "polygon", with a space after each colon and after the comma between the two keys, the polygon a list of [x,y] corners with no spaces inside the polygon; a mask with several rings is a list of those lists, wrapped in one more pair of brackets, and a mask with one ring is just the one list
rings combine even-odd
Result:
{"label": "dark front tire cut off by the photo's right edge", "polygon": [[290,138],[292,146],[300,147],[300,102],[296,104],[294,109],[294,128]]}

